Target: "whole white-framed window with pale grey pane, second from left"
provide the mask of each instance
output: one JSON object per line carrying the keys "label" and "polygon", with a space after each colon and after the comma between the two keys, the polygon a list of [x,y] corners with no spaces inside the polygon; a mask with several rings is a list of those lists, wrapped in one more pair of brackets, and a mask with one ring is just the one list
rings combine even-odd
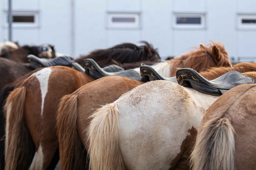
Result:
{"label": "whole white-framed window with pale grey pane, second from left", "polygon": [[108,28],[140,28],[140,13],[108,13]]}

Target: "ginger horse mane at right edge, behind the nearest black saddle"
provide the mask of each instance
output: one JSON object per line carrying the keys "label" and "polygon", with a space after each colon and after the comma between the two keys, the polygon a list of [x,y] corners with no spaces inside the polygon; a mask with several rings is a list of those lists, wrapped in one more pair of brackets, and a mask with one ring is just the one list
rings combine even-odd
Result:
{"label": "ginger horse mane at right edge, behind the nearest black saddle", "polygon": [[227,73],[228,71],[238,71],[240,73],[245,73],[248,71],[256,70],[256,63],[238,63],[234,67],[212,67],[210,69],[207,69],[203,72],[200,72],[204,78],[208,80],[216,79],[217,77]]}

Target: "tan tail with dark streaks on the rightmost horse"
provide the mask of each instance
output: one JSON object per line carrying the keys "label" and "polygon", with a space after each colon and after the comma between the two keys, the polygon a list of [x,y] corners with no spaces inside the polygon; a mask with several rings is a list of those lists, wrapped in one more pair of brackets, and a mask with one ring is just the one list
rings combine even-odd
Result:
{"label": "tan tail with dark streaks on the rightmost horse", "polygon": [[193,170],[235,170],[234,129],[228,118],[201,123],[190,157]]}

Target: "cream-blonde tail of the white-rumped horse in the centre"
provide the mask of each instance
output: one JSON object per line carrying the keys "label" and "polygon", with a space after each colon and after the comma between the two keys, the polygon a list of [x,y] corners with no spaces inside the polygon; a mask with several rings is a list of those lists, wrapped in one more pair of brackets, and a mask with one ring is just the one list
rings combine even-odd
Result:
{"label": "cream-blonde tail of the white-rumped horse in the centre", "polygon": [[107,104],[90,116],[88,153],[91,169],[125,169],[118,144],[118,116],[115,104]]}

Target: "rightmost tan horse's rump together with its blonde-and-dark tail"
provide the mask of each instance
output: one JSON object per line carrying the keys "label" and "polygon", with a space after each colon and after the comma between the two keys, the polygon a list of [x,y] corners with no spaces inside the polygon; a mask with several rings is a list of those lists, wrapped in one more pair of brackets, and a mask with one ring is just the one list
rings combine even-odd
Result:
{"label": "rightmost tan horse's rump together with its blonde-and-dark tail", "polygon": [[254,94],[256,85],[239,85],[209,107],[191,153],[193,170],[255,169]]}

